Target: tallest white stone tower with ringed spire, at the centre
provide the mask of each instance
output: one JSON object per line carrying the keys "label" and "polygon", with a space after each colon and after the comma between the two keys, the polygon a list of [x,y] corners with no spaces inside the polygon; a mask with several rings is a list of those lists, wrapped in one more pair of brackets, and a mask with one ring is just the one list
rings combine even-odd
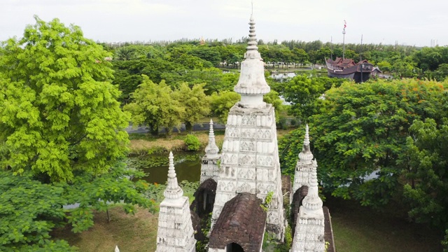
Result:
{"label": "tallest white stone tower with ringed spire, at the centre", "polygon": [[247,52],[234,88],[241,94],[241,100],[230,109],[225,126],[211,228],[224,204],[237,193],[255,194],[261,200],[273,193],[267,228],[282,240],[285,221],[275,113],[274,107],[262,100],[270,87],[265,80],[252,18],[250,25]]}

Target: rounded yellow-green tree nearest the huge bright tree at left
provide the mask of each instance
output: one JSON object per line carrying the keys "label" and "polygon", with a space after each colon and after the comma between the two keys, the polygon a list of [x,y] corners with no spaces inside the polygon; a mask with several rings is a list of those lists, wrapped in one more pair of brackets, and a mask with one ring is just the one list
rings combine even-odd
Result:
{"label": "rounded yellow-green tree nearest the huge bright tree at left", "polygon": [[153,134],[158,134],[159,128],[165,127],[167,137],[170,137],[173,127],[181,126],[185,109],[174,99],[174,92],[164,80],[155,84],[148,76],[143,76],[143,79],[132,93],[132,103],[123,109],[132,113],[134,126],[148,125]]}

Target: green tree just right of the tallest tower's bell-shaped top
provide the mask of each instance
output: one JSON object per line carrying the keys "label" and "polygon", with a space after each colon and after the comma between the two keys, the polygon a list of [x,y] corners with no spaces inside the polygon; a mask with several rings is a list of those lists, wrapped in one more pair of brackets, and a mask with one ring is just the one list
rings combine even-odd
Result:
{"label": "green tree just right of the tallest tower's bell-shaped top", "polygon": [[344,80],[298,75],[277,88],[286,102],[291,103],[289,113],[307,121],[309,116],[318,113],[325,102],[320,98],[322,94],[332,86],[339,87]]}

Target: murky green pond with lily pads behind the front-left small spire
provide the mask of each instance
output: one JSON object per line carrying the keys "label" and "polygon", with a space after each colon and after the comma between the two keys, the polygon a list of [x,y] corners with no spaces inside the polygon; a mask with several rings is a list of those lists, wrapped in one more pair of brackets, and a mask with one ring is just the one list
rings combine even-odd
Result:
{"label": "murky green pond with lily pads behind the front-left small spire", "polygon": [[[177,181],[196,182],[200,179],[201,158],[203,153],[176,153],[174,154],[174,167],[176,168]],[[143,179],[148,183],[167,182],[168,154],[145,155],[130,157],[127,160],[130,167],[142,169],[147,176]]]}

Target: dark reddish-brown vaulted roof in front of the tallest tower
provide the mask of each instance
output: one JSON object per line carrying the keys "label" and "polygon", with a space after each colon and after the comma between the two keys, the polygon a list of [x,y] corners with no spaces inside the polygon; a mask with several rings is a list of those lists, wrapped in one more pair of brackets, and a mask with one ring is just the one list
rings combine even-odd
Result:
{"label": "dark reddish-brown vaulted roof in front of the tallest tower", "polygon": [[225,203],[214,229],[209,247],[225,248],[235,242],[245,252],[258,252],[265,232],[266,212],[261,200],[251,193],[240,193]]}

